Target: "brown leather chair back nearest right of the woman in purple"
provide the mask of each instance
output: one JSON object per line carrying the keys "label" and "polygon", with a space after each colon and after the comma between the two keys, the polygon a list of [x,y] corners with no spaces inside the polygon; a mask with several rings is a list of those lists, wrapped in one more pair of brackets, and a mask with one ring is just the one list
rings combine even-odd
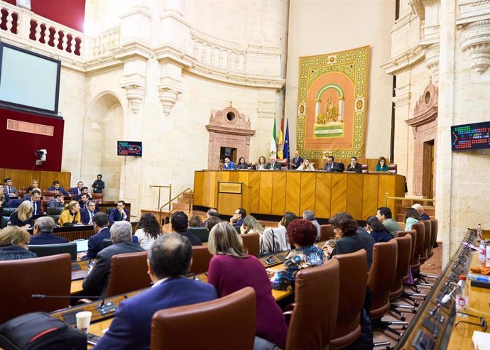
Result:
{"label": "brown leather chair back nearest right of the woman in purple", "polygon": [[335,331],[339,284],[337,259],[300,270],[295,280],[296,305],[289,322],[286,350],[327,349]]}

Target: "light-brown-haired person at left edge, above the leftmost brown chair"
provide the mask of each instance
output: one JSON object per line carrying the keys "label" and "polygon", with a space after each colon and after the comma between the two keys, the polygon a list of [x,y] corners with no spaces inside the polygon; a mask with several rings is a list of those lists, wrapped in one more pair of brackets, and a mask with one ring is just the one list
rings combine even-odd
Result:
{"label": "light-brown-haired person at left edge, above the leftmost brown chair", "polygon": [[31,235],[18,226],[7,226],[0,231],[0,261],[37,258],[28,251]]}

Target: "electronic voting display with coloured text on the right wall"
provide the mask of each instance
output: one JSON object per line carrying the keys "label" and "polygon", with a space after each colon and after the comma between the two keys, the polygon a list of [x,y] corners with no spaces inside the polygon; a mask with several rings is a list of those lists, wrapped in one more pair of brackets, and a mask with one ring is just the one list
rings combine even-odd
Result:
{"label": "electronic voting display with coloured text on the right wall", "polygon": [[490,121],[451,126],[453,151],[490,148]]}

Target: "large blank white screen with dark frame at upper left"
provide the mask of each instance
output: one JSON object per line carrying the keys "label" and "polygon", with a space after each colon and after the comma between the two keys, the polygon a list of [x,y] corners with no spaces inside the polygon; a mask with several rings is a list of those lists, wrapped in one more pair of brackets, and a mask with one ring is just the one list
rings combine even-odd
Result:
{"label": "large blank white screen with dark frame at upper left", "polygon": [[0,104],[58,114],[61,62],[0,43]]}

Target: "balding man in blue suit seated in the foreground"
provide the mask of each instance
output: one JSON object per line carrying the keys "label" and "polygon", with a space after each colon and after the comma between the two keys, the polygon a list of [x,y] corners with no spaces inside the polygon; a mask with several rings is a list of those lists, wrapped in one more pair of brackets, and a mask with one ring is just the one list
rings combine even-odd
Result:
{"label": "balding man in blue suit seated in the foreground", "polygon": [[153,287],[119,304],[109,330],[94,349],[150,349],[155,312],[216,299],[212,285],[185,278],[191,258],[192,246],[184,236],[160,236],[148,251]]}

